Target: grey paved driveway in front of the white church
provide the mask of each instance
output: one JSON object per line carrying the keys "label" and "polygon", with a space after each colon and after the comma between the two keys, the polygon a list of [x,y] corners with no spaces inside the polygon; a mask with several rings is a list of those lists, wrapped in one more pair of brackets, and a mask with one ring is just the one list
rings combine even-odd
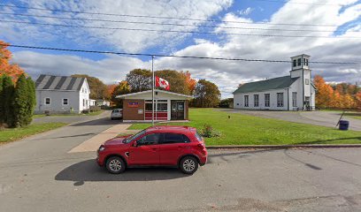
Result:
{"label": "grey paved driveway in front of the white church", "polygon": [[[309,125],[321,125],[335,127],[337,125],[341,113],[335,111],[275,111],[275,110],[230,110],[222,109],[233,113],[242,113],[256,117],[268,117],[289,122],[303,123]],[[342,117],[349,121],[349,129],[361,131],[361,119],[352,117]]]}

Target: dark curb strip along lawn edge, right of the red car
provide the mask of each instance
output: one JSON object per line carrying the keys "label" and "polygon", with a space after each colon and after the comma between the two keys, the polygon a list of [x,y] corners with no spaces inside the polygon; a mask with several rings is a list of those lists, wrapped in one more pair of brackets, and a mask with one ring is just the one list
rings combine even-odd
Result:
{"label": "dark curb strip along lawn edge, right of the red car", "polygon": [[361,144],[295,144],[295,145],[217,145],[208,149],[222,148],[361,148]]}

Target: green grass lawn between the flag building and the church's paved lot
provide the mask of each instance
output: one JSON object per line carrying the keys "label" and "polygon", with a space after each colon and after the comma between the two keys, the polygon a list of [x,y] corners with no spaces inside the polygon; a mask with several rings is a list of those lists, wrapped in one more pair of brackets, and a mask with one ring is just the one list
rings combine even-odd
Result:
{"label": "green grass lawn between the flag building and the church's paved lot", "polygon": [[[231,118],[228,118],[228,115]],[[211,125],[222,135],[206,138],[207,145],[260,145],[260,144],[361,144],[361,132],[339,131],[334,128],[304,125],[277,119],[217,111],[189,109],[189,125],[198,129]],[[144,129],[150,124],[134,124],[128,129]]]}

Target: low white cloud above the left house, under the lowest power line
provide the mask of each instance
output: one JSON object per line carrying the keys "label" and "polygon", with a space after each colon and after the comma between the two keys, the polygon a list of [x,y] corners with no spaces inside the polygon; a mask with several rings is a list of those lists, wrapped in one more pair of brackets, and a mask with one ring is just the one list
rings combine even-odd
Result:
{"label": "low white cloud above the left house, under the lowest power line", "polygon": [[127,72],[134,68],[149,68],[150,62],[142,62],[135,57],[108,56],[101,60],[91,60],[71,55],[49,55],[33,51],[19,51],[12,59],[33,78],[40,74],[67,76],[83,73],[111,84],[125,79]]}

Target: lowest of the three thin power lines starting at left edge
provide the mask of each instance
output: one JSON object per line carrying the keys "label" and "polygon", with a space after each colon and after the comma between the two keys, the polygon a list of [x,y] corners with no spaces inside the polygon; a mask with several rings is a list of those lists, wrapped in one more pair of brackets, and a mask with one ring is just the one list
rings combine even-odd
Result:
{"label": "lowest of the three thin power lines starting at left edge", "polygon": [[331,38],[331,39],[360,39],[361,37],[330,37],[322,35],[288,35],[288,34],[237,34],[237,33],[216,33],[216,32],[198,32],[198,31],[184,31],[184,30],[164,30],[164,29],[144,29],[144,28],[127,28],[127,27],[90,27],[80,25],[64,25],[64,24],[49,24],[37,23],[28,21],[5,20],[2,22],[18,23],[27,25],[40,25],[52,27],[77,27],[77,28],[93,28],[93,29],[111,29],[111,30],[127,30],[127,31],[142,31],[142,32],[160,32],[160,33],[182,33],[182,34],[221,34],[221,35],[239,35],[239,36],[261,36],[261,37],[292,37],[292,38]]}

